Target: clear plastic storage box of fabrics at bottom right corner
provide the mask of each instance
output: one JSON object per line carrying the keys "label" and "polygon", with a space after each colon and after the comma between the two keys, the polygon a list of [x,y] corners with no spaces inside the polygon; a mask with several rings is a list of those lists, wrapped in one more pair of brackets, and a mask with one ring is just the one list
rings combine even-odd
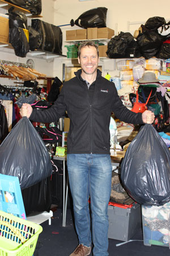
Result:
{"label": "clear plastic storage box of fabrics at bottom right corner", "polygon": [[142,205],[144,245],[167,246],[170,249],[170,203],[161,206]]}

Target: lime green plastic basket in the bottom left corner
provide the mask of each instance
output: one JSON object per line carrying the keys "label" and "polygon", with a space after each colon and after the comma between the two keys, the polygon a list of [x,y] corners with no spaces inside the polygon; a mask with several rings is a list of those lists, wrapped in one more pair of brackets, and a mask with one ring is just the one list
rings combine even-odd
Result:
{"label": "lime green plastic basket in the bottom left corner", "polygon": [[32,256],[42,227],[0,210],[0,256]]}

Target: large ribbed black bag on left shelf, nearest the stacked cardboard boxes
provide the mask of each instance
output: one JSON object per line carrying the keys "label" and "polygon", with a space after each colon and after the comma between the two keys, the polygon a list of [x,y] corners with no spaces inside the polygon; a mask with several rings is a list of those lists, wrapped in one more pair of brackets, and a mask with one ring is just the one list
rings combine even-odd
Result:
{"label": "large ribbed black bag on left shelf, nearest the stacked cardboard boxes", "polygon": [[61,28],[40,19],[32,19],[31,22],[31,27],[40,33],[42,43],[38,49],[62,55]]}

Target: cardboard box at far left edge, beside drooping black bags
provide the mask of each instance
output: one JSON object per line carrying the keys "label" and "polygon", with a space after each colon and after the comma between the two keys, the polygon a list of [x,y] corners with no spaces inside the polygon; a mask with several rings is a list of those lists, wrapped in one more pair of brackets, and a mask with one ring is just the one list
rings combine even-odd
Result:
{"label": "cardboard box at far left edge, beside drooping black bags", "polygon": [[9,43],[9,19],[0,16],[0,42]]}

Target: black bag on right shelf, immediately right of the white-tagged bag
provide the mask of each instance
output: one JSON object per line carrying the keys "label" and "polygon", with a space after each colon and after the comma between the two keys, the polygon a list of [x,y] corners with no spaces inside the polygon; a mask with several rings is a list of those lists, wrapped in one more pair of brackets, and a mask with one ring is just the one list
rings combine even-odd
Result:
{"label": "black bag on right shelf, immediately right of the white-tagged bag", "polygon": [[145,59],[150,59],[151,57],[155,57],[159,52],[160,47],[162,46],[162,39],[158,33],[151,30],[145,30],[138,35],[137,43],[142,56],[145,57]]}

